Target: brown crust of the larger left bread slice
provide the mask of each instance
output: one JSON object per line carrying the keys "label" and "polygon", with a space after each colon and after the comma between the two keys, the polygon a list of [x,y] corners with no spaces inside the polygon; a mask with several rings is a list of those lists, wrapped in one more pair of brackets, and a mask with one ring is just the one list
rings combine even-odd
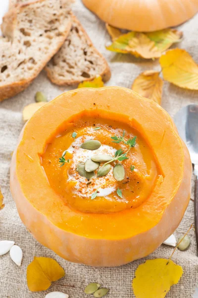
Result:
{"label": "brown crust of the larger left bread slice", "polygon": [[[28,2],[28,3],[16,4],[15,8],[13,8],[11,11],[8,12],[7,15],[4,16],[3,22],[4,21],[7,22],[6,17],[8,17],[9,19],[11,18],[10,13],[16,14],[16,11],[15,11],[16,9],[19,9],[18,13],[20,13],[26,6],[29,6],[35,2],[43,2],[43,1],[45,1],[45,0],[36,0],[36,1]],[[69,12],[69,17],[71,17],[71,12]],[[43,60],[43,63],[40,64],[40,66],[35,70],[34,74],[32,74],[27,79],[15,81],[15,82],[4,84],[4,85],[0,86],[0,101],[18,94],[19,92],[23,91],[31,84],[31,82],[43,70],[43,68],[46,66],[46,64],[49,62],[49,60],[57,53],[57,51],[63,45],[67,35],[70,32],[71,25],[72,25],[72,22],[70,20],[70,21],[68,21],[67,27],[62,32],[62,38],[61,38],[60,42],[57,43],[56,48],[54,48],[52,51],[50,51],[49,55]]]}

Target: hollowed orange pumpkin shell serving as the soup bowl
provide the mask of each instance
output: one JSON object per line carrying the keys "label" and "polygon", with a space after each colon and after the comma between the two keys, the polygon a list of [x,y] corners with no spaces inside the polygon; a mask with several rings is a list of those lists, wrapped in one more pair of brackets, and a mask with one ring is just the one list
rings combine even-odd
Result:
{"label": "hollowed orange pumpkin shell serving as the soup bowl", "polygon": [[[153,149],[163,175],[138,208],[82,214],[51,189],[39,155],[66,119],[84,110],[130,122]],[[43,245],[72,262],[119,266],[148,255],[177,228],[189,203],[191,175],[188,149],[159,105],[126,88],[82,88],[61,94],[26,124],[12,156],[10,188],[22,222]]]}

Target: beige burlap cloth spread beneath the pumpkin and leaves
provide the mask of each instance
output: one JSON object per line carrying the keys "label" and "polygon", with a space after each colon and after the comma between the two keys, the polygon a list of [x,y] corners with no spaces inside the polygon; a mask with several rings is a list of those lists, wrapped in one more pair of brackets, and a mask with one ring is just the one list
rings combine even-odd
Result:
{"label": "beige burlap cloth spread beneath the pumpkin and leaves", "polygon": [[[104,45],[110,39],[104,23],[88,11],[80,0],[77,0],[74,5],[74,12],[110,65],[112,76],[106,85],[130,88],[135,77],[141,72],[149,69],[160,69],[157,60],[154,62],[145,61],[129,55],[108,52],[105,50]],[[194,60],[198,61],[198,15],[179,28],[184,32],[184,39],[178,46],[186,49]],[[88,296],[83,293],[84,288],[90,282],[97,282],[109,288],[110,291],[107,296],[109,298],[131,298],[134,297],[131,281],[138,265],[143,263],[145,259],[168,258],[173,251],[173,248],[161,245],[147,258],[125,266],[91,268],[61,259],[48,248],[39,244],[21,223],[9,190],[9,164],[10,154],[16,146],[17,138],[23,127],[22,109],[27,104],[34,102],[36,91],[43,91],[51,100],[68,89],[51,84],[45,72],[43,72],[27,90],[0,103],[0,186],[5,203],[5,208],[0,211],[0,240],[14,240],[24,253],[21,267],[17,267],[11,261],[9,254],[0,257],[0,298],[44,298],[51,291],[65,292],[69,294],[70,298],[85,298]],[[164,83],[162,106],[171,116],[174,116],[182,106],[196,102],[198,103],[198,92],[185,90],[168,82]],[[192,191],[192,198],[193,195]],[[183,232],[187,231],[192,223],[194,223],[194,208],[191,200],[184,219],[175,232],[176,237],[178,238]],[[192,242],[189,250],[186,252],[177,250],[172,258],[173,261],[183,267],[184,274],[179,284],[171,288],[166,296],[167,298],[193,297],[198,271],[197,248],[193,229],[190,231],[190,236]],[[65,270],[65,278],[54,283],[46,292],[31,293],[26,283],[26,268],[34,256],[46,256],[56,259]]]}

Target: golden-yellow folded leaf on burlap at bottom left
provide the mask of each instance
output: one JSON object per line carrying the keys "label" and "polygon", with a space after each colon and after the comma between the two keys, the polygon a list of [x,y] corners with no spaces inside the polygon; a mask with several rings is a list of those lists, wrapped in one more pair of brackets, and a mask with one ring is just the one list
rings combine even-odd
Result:
{"label": "golden-yellow folded leaf on burlap at bottom left", "polygon": [[47,290],[52,282],[65,275],[63,268],[53,259],[35,257],[27,267],[27,284],[32,292]]}

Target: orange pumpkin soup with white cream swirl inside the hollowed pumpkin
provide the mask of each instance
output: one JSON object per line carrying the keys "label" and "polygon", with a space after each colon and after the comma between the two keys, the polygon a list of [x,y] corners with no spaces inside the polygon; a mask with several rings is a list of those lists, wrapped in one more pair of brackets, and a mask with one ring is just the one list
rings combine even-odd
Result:
{"label": "orange pumpkin soup with white cream swirl inside the hollowed pumpkin", "polygon": [[[111,139],[114,136],[122,137],[123,141]],[[130,149],[125,143],[134,137],[137,137],[136,143]],[[101,145],[95,150],[81,148],[88,140],[97,140]],[[130,150],[126,159],[113,160],[119,149],[122,149],[122,154]],[[63,152],[64,164],[60,162]],[[113,161],[109,160],[107,174],[98,176],[100,167],[106,163],[101,154],[111,156]],[[96,155],[99,155],[100,162],[96,162],[98,168],[91,171],[92,177],[80,175],[79,163],[86,163]],[[121,181],[113,175],[113,169],[118,164],[124,167]],[[86,113],[65,123],[64,132],[50,141],[42,155],[42,166],[51,187],[65,204],[72,209],[91,213],[118,212],[138,207],[148,198],[160,174],[153,153],[140,132],[120,121],[91,117]],[[95,198],[94,193],[97,195]]]}

